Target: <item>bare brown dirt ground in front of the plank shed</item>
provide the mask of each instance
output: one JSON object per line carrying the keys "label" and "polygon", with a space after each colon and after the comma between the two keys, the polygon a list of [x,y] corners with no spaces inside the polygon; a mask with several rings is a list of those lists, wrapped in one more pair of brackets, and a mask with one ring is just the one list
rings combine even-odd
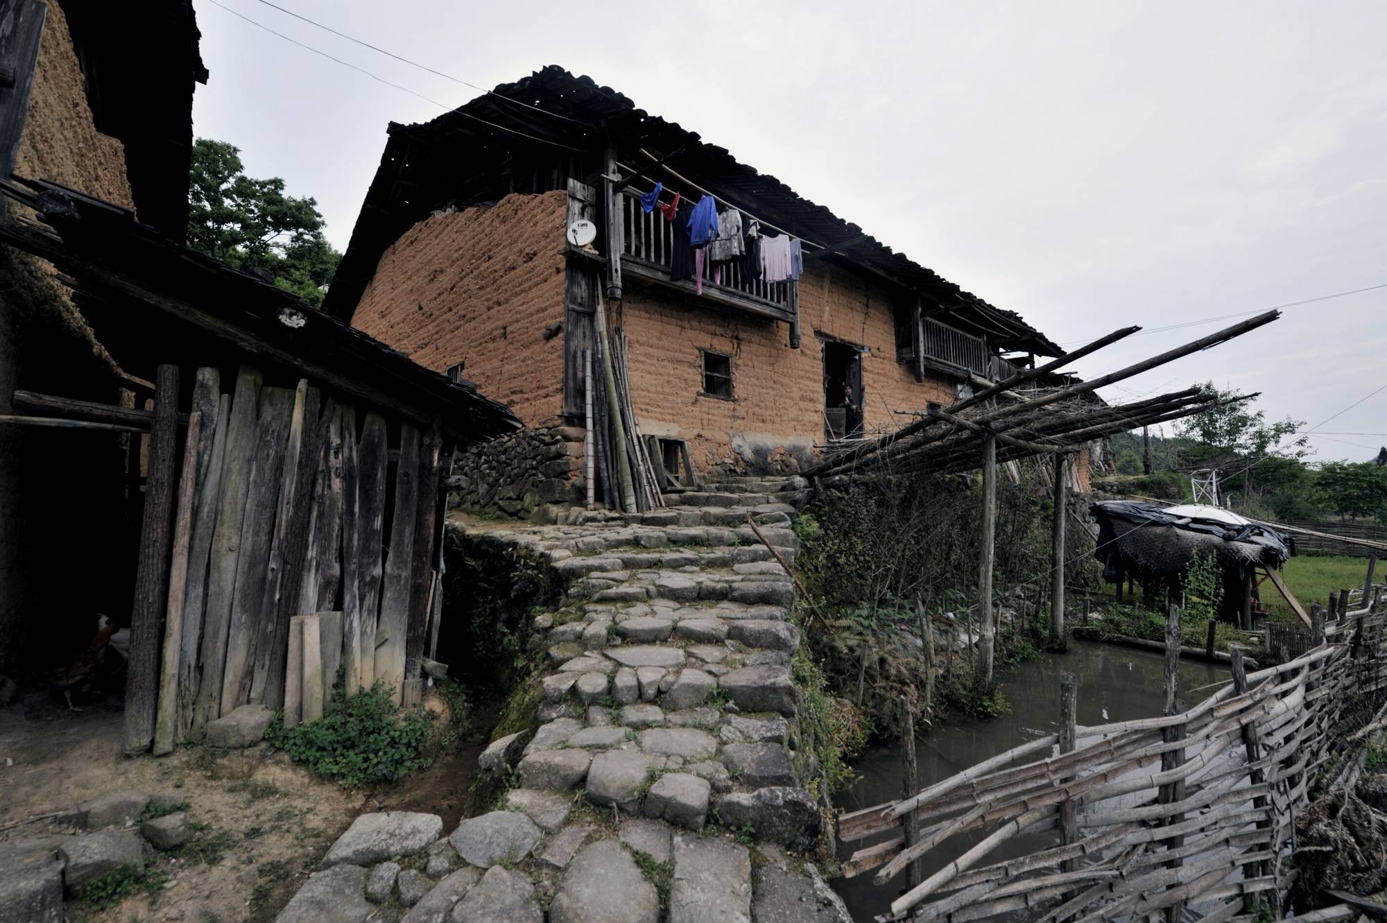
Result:
{"label": "bare brown dirt ground in front of the plank shed", "polygon": [[150,861],[144,884],[111,908],[68,905],[69,920],[146,923],[272,920],[358,814],[441,814],[451,832],[484,746],[463,737],[429,769],[391,786],[344,791],[266,747],[179,747],[168,757],[123,758],[121,701],[69,712],[35,694],[0,708],[0,843],[71,830],[42,815],[112,791],[173,793],[198,832]]}

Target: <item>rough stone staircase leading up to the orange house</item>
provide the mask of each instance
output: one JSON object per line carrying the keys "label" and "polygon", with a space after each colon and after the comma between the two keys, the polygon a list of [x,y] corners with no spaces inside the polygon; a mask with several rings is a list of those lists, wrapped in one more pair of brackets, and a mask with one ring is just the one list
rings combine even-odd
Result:
{"label": "rough stone staircase leading up to the orange house", "polygon": [[[746,524],[792,561],[786,500],[802,488],[730,480],[652,513],[448,524],[549,561],[569,588],[533,626],[548,669],[540,726],[480,759],[515,787],[452,832],[466,865],[405,920],[850,923],[795,858],[820,811],[796,769],[793,583]],[[485,899],[467,897],[488,881]],[[444,905],[451,916],[436,915]]]}

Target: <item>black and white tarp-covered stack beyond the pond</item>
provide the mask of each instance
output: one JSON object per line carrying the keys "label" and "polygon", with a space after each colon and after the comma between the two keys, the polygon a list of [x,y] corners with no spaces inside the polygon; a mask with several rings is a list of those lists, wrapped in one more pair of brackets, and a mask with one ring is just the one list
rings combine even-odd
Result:
{"label": "black and white tarp-covered stack beyond the pond", "polygon": [[1279,568],[1290,556],[1279,532],[1216,506],[1105,500],[1090,506],[1089,516],[1099,524],[1099,557],[1108,581],[1175,578],[1196,554],[1215,554],[1225,572],[1240,578],[1248,565]]}

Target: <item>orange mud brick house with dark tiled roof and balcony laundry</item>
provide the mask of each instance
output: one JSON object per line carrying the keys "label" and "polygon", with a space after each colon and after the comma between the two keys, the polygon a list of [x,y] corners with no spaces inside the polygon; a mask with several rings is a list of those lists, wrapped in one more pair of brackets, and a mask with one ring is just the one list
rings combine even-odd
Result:
{"label": "orange mud brick house with dark tiled roof and balcony laundry", "polygon": [[[766,265],[709,252],[702,279],[681,279],[689,245],[663,213],[675,193],[675,220],[712,197],[763,247],[789,238],[802,267],[771,281]],[[591,244],[566,233],[580,220]],[[700,475],[793,473],[831,439],[1062,355],[1015,313],[559,67],[390,125],[325,309],[476,381],[530,427],[571,432],[603,297],[639,435],[670,466],[687,450]]]}

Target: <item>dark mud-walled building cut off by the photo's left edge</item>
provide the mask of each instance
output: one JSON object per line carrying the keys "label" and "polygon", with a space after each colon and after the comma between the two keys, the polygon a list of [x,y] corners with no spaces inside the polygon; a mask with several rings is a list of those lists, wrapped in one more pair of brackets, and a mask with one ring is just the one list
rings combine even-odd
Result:
{"label": "dark mud-walled building cut off by the photo's left edge", "polygon": [[[189,0],[0,0],[0,180],[51,179],[182,240],[193,87],[207,80],[197,46]],[[6,209],[32,218],[0,197]],[[123,394],[130,406],[150,396],[97,342],[54,266],[0,244],[0,414],[15,412],[17,388],[101,403]],[[0,427],[0,672],[85,646],[94,628],[75,629],[76,618],[128,618],[139,485],[125,463],[114,439]]]}

